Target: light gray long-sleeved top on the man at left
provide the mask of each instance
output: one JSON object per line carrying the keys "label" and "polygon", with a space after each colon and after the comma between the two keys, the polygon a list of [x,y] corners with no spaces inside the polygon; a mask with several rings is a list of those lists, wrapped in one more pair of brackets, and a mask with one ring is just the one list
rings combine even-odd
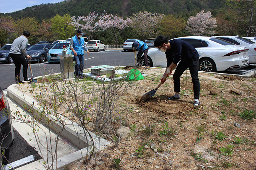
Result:
{"label": "light gray long-sleeved top on the man at left", "polygon": [[28,55],[26,52],[27,43],[28,43],[28,39],[24,35],[21,35],[20,37],[16,38],[13,41],[12,47],[9,53],[22,54],[24,56],[27,56]]}

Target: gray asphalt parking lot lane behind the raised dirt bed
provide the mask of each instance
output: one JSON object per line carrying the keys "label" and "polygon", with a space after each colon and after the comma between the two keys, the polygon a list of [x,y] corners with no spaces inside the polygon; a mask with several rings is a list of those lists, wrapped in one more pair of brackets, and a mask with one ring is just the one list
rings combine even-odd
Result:
{"label": "gray asphalt parking lot lane behind the raised dirt bed", "polygon": [[[134,52],[124,52],[122,50],[107,50],[94,52],[90,51],[90,55],[84,55],[84,68],[90,68],[91,66],[98,65],[111,65],[111,66],[126,66],[134,65]],[[2,89],[6,89],[8,86],[14,83],[14,64],[6,64],[0,62],[0,86]],[[45,63],[32,63],[31,64],[33,76],[42,76],[45,73],[60,72],[60,63],[49,64]],[[21,80],[22,68],[20,70]],[[31,77],[30,68],[28,68],[28,77]]]}

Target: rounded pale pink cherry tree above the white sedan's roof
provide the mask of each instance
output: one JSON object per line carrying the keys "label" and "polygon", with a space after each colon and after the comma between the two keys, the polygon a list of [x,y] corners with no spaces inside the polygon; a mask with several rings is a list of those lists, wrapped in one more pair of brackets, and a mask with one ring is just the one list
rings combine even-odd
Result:
{"label": "rounded pale pink cherry tree above the white sedan's roof", "polygon": [[216,18],[212,18],[210,11],[204,13],[196,13],[196,16],[191,16],[186,25],[186,30],[195,36],[208,36],[216,34],[217,27]]}

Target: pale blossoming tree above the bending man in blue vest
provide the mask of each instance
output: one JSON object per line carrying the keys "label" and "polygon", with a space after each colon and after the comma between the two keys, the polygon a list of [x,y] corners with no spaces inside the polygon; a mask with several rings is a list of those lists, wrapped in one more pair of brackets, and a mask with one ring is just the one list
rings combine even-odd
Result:
{"label": "pale blossoming tree above the bending man in blue vest", "polygon": [[138,36],[142,40],[154,37],[158,34],[158,27],[160,25],[160,21],[164,18],[164,14],[152,14],[144,11],[133,15],[130,27],[137,31]]}

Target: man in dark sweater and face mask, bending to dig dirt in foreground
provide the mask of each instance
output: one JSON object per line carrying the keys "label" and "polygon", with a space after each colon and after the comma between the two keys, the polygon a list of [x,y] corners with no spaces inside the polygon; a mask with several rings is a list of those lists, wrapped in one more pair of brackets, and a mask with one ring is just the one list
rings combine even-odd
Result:
{"label": "man in dark sweater and face mask, bending to dig dirt in foreground", "polygon": [[165,82],[166,74],[172,74],[171,68],[180,62],[173,74],[175,94],[168,99],[180,99],[180,76],[187,68],[189,68],[194,90],[193,106],[198,107],[200,105],[200,82],[198,78],[199,55],[196,49],[186,41],[182,41],[180,39],[168,41],[168,39],[162,35],[159,35],[155,39],[154,46],[157,47],[161,52],[165,53],[167,59],[167,68],[161,78],[162,83]]}

